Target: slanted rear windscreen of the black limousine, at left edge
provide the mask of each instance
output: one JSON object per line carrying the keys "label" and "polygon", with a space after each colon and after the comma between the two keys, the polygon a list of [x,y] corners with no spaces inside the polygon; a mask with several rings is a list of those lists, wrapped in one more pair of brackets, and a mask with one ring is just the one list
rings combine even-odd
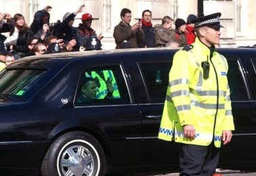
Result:
{"label": "slanted rear windscreen of the black limousine, at left edge", "polygon": [[43,74],[44,70],[5,70],[0,77],[0,94],[22,97]]}

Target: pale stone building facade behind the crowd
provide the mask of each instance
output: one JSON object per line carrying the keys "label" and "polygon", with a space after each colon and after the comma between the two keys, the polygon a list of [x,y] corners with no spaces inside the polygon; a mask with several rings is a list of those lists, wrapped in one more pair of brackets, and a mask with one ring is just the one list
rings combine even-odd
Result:
{"label": "pale stone building facade behind the crowd", "polygon": [[[103,49],[114,49],[113,28],[120,22],[120,11],[127,7],[132,11],[134,24],[141,18],[144,9],[150,9],[153,24],[161,22],[163,16],[174,19],[187,19],[189,14],[197,14],[197,0],[0,0],[0,12],[14,15],[21,13],[27,24],[31,24],[33,14],[46,5],[53,7],[50,11],[50,22],[62,20],[66,12],[75,12],[81,4],[85,4],[85,12],[96,18],[92,28],[102,33]],[[221,12],[221,46],[236,47],[254,45],[256,43],[256,1],[255,0],[204,0],[204,15]],[[83,14],[83,13],[81,13]],[[74,26],[81,22],[81,14],[77,15]]]}

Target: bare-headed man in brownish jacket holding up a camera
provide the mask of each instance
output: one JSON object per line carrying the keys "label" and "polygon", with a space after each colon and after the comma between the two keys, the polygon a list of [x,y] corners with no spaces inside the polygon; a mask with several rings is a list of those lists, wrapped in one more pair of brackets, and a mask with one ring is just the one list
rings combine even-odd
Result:
{"label": "bare-headed man in brownish jacket holding up a camera", "polygon": [[115,38],[116,49],[121,48],[136,48],[138,43],[141,43],[144,39],[144,32],[142,30],[141,22],[137,22],[133,26],[130,26],[131,20],[130,9],[122,9],[120,24],[115,26],[113,36]]}

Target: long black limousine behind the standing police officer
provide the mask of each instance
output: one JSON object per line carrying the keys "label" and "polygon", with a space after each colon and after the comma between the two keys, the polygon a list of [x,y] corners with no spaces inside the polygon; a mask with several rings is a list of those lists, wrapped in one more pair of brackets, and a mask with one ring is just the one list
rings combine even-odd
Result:
{"label": "long black limousine behind the standing police officer", "polygon": [[[178,146],[158,139],[174,49],[54,53],[0,74],[0,171],[92,176],[179,171]],[[228,61],[236,131],[219,167],[256,169],[256,50]]]}

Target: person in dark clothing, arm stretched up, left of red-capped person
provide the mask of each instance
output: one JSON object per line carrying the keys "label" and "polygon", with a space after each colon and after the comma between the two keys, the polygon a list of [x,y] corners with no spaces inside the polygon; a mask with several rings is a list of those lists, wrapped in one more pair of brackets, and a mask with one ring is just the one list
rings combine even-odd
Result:
{"label": "person in dark clothing, arm stretched up, left of red-capped person", "polygon": [[54,29],[54,35],[58,37],[58,39],[63,39],[65,43],[75,39],[75,28],[72,25],[75,16],[82,12],[83,9],[84,5],[81,5],[76,12],[73,12],[72,14],[67,12],[65,16],[63,16],[63,21]]}

